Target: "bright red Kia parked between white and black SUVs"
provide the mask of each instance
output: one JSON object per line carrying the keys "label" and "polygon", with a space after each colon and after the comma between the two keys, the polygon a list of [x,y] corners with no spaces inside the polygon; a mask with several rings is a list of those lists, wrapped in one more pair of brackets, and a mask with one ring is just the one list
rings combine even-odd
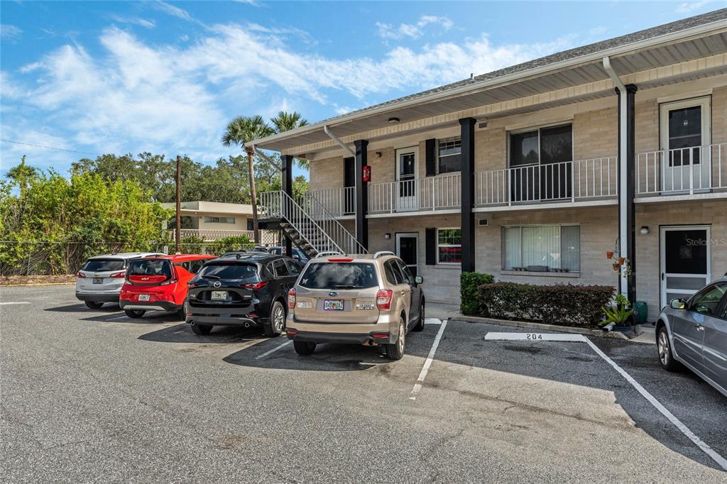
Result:
{"label": "bright red Kia parked between white and black SUVs", "polygon": [[177,254],[145,257],[129,263],[119,306],[129,318],[147,311],[176,312],[185,319],[187,283],[213,255]]}

